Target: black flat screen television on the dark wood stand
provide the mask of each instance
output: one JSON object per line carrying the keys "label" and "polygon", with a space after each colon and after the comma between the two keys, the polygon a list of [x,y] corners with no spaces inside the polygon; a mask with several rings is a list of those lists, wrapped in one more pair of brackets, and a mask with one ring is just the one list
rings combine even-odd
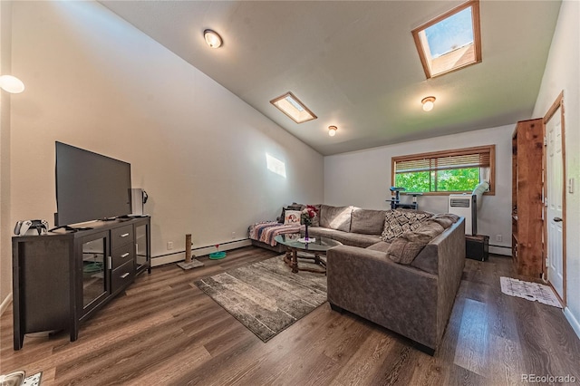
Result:
{"label": "black flat screen television on the dark wood stand", "polygon": [[131,164],[56,142],[56,226],[131,214]]}

